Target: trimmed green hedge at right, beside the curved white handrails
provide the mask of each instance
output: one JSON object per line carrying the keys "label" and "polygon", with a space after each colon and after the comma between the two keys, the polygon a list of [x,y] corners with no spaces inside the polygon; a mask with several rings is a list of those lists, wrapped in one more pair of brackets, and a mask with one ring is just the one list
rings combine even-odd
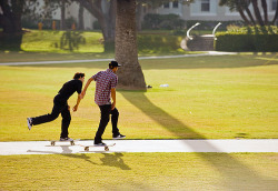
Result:
{"label": "trimmed green hedge at right, beside the curved white handrails", "polygon": [[255,51],[277,52],[277,27],[241,28],[237,31],[216,33],[215,50],[217,51]]}

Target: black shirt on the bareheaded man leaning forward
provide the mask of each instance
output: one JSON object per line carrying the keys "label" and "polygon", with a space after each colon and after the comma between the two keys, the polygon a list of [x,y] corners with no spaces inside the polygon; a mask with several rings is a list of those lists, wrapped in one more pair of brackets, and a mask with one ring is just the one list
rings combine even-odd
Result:
{"label": "black shirt on the bareheaded man leaning forward", "polygon": [[56,96],[60,101],[67,101],[76,91],[81,93],[82,82],[80,80],[70,80],[66,82]]}

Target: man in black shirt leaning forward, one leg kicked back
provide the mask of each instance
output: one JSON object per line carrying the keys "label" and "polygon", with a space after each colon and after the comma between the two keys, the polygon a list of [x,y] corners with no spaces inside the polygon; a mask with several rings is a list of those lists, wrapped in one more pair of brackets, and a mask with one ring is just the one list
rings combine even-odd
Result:
{"label": "man in black shirt leaning forward, one leg kicked back", "polygon": [[72,109],[73,111],[77,111],[80,100],[82,99],[80,93],[82,91],[83,81],[85,81],[85,73],[77,72],[73,77],[73,80],[66,82],[60,89],[60,91],[58,92],[58,94],[54,97],[53,109],[50,114],[44,114],[44,115],[40,115],[36,118],[27,118],[28,129],[31,130],[32,125],[53,121],[61,113],[62,125],[61,125],[60,141],[73,141],[72,139],[68,137],[69,134],[68,129],[69,129],[69,124],[71,121],[70,107],[68,105],[68,99],[76,91],[78,92],[77,104]]}

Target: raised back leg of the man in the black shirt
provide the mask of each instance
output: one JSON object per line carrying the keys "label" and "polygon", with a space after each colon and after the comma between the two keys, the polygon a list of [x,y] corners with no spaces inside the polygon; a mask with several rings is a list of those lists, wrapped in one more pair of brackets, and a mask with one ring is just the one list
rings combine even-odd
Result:
{"label": "raised back leg of the man in the black shirt", "polygon": [[44,115],[32,118],[32,124],[37,125],[37,124],[53,121],[54,119],[59,117],[62,108],[63,108],[62,104],[54,103],[52,112],[50,114],[44,114]]}

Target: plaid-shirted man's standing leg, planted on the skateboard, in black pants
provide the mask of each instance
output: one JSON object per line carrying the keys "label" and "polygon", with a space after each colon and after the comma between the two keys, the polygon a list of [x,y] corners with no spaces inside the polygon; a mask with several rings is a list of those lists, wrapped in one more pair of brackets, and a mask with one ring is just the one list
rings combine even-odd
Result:
{"label": "plaid-shirted man's standing leg, planted on the skateboard, in black pants", "polygon": [[99,109],[100,109],[100,122],[99,122],[99,129],[95,137],[95,143],[100,143],[102,141],[102,134],[109,122],[109,113],[111,111],[111,104],[99,105]]}

